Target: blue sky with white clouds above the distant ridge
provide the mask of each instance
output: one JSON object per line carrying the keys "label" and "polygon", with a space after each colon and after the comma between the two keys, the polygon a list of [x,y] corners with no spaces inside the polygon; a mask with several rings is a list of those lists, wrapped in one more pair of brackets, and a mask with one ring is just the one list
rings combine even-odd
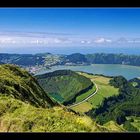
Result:
{"label": "blue sky with white clouds above the distant ridge", "polygon": [[140,8],[0,8],[0,52],[84,47],[140,47]]}

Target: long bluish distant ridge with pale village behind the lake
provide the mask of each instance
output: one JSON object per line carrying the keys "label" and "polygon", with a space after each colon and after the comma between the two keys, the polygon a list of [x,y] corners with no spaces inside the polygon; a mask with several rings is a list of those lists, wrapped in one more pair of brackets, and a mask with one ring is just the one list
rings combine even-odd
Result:
{"label": "long bluish distant ridge with pale village behind the lake", "polygon": [[126,64],[140,66],[139,55],[124,54],[80,54],[60,55],[51,53],[38,54],[6,54],[0,53],[0,64],[16,64],[19,66],[54,66],[54,65],[88,65],[88,64]]}

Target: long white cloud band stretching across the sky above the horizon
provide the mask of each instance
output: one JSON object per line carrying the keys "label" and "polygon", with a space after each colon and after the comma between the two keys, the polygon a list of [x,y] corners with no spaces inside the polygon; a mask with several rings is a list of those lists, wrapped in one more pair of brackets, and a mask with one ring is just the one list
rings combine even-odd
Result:
{"label": "long white cloud band stretching across the sky above the horizon", "polygon": [[71,46],[71,45],[95,45],[104,43],[140,43],[140,38],[127,39],[120,37],[112,40],[106,37],[88,38],[73,36],[63,33],[45,32],[0,32],[0,46]]}

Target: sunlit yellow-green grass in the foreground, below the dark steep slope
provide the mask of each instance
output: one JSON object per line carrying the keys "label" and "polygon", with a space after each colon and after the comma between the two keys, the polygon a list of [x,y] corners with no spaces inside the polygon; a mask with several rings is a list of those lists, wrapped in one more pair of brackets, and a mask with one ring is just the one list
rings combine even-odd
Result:
{"label": "sunlit yellow-green grass in the foreground, below the dark steep slope", "polygon": [[36,108],[30,104],[0,95],[0,132],[101,132],[87,116],[78,116],[66,108]]}

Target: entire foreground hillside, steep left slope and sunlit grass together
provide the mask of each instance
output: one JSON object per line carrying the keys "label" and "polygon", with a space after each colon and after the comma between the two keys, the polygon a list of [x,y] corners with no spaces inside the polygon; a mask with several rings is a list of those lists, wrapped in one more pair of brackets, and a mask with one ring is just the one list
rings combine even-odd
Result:
{"label": "entire foreground hillside, steep left slope and sunlit grass together", "polygon": [[124,131],[116,123],[113,129],[101,126],[86,115],[54,106],[36,79],[17,66],[0,65],[0,72],[0,132]]}

